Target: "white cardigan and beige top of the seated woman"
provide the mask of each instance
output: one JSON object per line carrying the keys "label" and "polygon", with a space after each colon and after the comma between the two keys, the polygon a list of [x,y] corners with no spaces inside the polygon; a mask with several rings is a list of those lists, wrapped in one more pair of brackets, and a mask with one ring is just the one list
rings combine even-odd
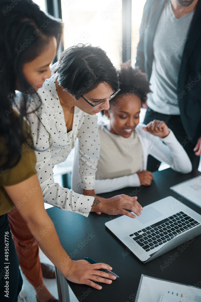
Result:
{"label": "white cardigan and beige top of the seated woman", "polygon": [[[189,173],[192,170],[192,164],[190,159],[185,152],[184,148],[177,141],[174,133],[170,130],[170,133],[165,138],[159,138],[146,132],[142,127],[145,125],[138,124],[135,128],[136,134],[140,140],[142,146],[142,165],[140,170],[146,170],[147,166],[147,158],[148,155],[151,154],[156,159],[168,163],[171,168],[177,172],[181,173]],[[137,173],[133,173],[131,175],[125,175],[116,178],[106,178],[108,173],[111,172],[111,166],[117,166],[118,161],[121,161],[122,156],[125,159],[129,158],[129,156],[135,157],[135,148],[130,147],[128,144],[128,139],[120,137],[119,135],[113,134],[107,130],[104,124],[99,124],[99,135],[100,135],[100,159],[104,158],[105,154],[110,159],[110,166],[108,165],[99,165],[96,172],[96,183],[95,183],[95,193],[105,193],[108,191],[115,191],[125,187],[137,187],[140,186],[140,179]],[[110,140],[111,146],[107,146],[108,141]],[[129,148],[125,149],[125,145],[129,146]],[[120,152],[121,150],[121,152]],[[72,188],[74,191],[80,190],[80,181],[78,171],[78,163],[76,162],[77,152],[75,156],[73,175],[72,175]],[[119,165],[118,165],[119,167]],[[127,163],[124,164],[123,169],[125,171],[131,170],[130,160],[127,160]],[[121,171],[118,171],[121,174]]]}

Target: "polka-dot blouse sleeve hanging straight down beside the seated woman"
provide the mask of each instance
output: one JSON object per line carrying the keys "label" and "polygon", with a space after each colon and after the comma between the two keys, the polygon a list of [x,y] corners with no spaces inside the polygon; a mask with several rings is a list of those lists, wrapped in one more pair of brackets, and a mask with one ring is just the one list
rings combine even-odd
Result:
{"label": "polka-dot blouse sleeve hanging straight down beside the seated woman", "polygon": [[100,154],[100,140],[96,115],[86,115],[78,132],[79,171],[81,188],[94,189],[96,166]]}

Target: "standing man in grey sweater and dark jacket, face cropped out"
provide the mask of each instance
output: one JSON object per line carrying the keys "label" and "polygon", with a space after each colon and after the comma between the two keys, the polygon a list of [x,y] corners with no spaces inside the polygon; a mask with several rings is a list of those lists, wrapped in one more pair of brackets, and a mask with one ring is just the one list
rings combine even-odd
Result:
{"label": "standing man in grey sweater and dark jacket, face cropped out", "polygon": [[[164,120],[196,169],[201,155],[200,14],[200,0],[147,0],[136,59],[152,90],[144,123]],[[147,170],[159,165],[149,159]]]}

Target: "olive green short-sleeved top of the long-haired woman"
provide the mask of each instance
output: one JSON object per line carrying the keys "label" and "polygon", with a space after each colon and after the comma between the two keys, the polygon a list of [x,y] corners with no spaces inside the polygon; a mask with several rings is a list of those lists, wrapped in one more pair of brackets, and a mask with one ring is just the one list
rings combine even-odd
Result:
{"label": "olive green short-sleeved top of the long-haired woman", "polygon": [[30,143],[23,143],[19,152],[21,158],[14,168],[5,171],[0,170],[0,215],[8,213],[14,207],[3,187],[16,185],[37,173],[35,169],[36,156]]}

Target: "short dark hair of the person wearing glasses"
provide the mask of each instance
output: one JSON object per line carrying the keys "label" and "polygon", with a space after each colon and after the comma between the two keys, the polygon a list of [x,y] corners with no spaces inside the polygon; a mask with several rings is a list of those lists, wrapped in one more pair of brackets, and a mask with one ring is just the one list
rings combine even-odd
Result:
{"label": "short dark hair of the person wearing glasses", "polygon": [[103,82],[111,85],[114,92],[119,88],[117,70],[106,52],[91,44],[78,44],[64,50],[56,71],[59,85],[77,100]]}

